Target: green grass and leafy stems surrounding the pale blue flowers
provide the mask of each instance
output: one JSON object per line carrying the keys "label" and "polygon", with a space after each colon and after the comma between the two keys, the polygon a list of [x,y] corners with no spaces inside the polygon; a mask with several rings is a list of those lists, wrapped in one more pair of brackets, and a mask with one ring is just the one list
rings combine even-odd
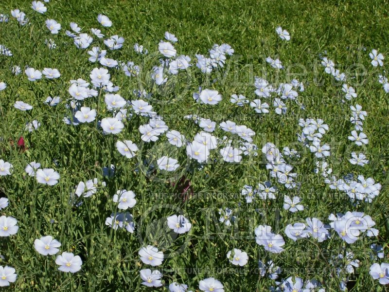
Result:
{"label": "green grass and leafy stems surrounding the pale blue flowers", "polygon": [[[9,0],[0,8],[0,13],[8,15],[11,9],[18,8],[30,18],[30,24],[23,27],[15,19],[0,23],[0,43],[14,54],[12,57],[0,56],[0,81],[8,85],[6,91],[0,91],[0,136],[3,138],[0,159],[14,165],[12,176],[0,178],[0,190],[10,201],[1,212],[17,218],[19,225],[16,236],[0,239],[0,253],[5,257],[1,265],[14,267],[18,274],[18,280],[11,284],[9,291],[150,291],[141,286],[139,277],[139,271],[146,268],[138,256],[143,244],[157,244],[165,256],[170,255],[161,266],[165,283],[186,283],[194,291],[200,280],[211,276],[224,284],[226,292],[265,291],[274,285],[274,281],[259,276],[258,260],[268,258],[282,268],[280,278],[300,276],[305,280],[315,277],[325,284],[326,291],[338,291],[340,279],[334,267],[343,263],[334,258],[346,250],[353,251],[361,261],[356,273],[350,275],[350,291],[385,290],[369,275],[373,262],[369,247],[373,242],[384,245],[389,239],[389,231],[385,228],[389,214],[386,188],[389,104],[385,91],[377,82],[377,75],[383,73],[387,64],[384,68],[372,67],[368,53],[377,49],[388,54],[387,1],[52,0],[46,5],[48,11],[44,15],[32,11],[30,1]],[[191,68],[186,75],[180,74],[177,80],[169,83],[169,87],[159,90],[150,86],[146,74],[128,78],[118,71],[111,73],[112,82],[121,87],[119,93],[126,99],[134,98],[131,93],[134,89],[155,92],[150,101],[154,109],[170,128],[190,139],[199,128],[183,116],[196,113],[217,124],[230,119],[247,125],[255,130],[254,143],[259,148],[266,142],[273,142],[280,149],[289,146],[301,151],[301,161],[293,163],[301,188],[286,190],[280,185],[277,200],[246,204],[240,195],[243,186],[269,179],[261,155],[246,159],[242,164],[226,164],[221,161],[218,151],[214,151],[211,158],[216,161],[200,170],[187,159],[185,149],[175,150],[171,156],[183,166],[178,174],[172,177],[159,172],[145,175],[137,163],[174,151],[165,138],[152,145],[141,143],[138,128],[147,123],[145,118],[134,116],[118,138],[106,137],[92,126],[72,127],[63,123],[64,113],[69,112],[65,108],[69,80],[89,80],[90,71],[96,67],[88,62],[88,50],[75,48],[64,31],[69,29],[71,21],[77,22],[84,32],[91,27],[100,28],[96,21],[99,13],[113,21],[112,27],[104,29],[106,36],[117,34],[125,38],[121,50],[107,52],[107,55],[118,60],[132,60],[146,69],[151,69],[158,61],[154,52],[165,31],[178,38],[177,52],[190,55],[192,60],[195,54],[206,54],[214,43],[229,43],[235,55],[228,59],[225,70],[212,73],[211,77]],[[53,36],[48,32],[44,25],[47,18],[61,23],[60,34]],[[274,30],[278,25],[290,32],[291,41],[282,42],[277,37]],[[57,43],[55,50],[46,47],[46,38]],[[103,42],[99,42],[104,47]],[[136,42],[149,50],[148,57],[133,51],[132,45]],[[270,69],[264,60],[269,55],[279,57],[286,70]],[[322,55],[335,60],[337,68],[348,76],[355,76],[349,79],[349,84],[358,93],[355,100],[340,102],[344,95],[342,83],[334,82],[323,73],[319,65]],[[11,75],[13,65],[57,68],[61,77],[53,82],[29,82],[24,74]],[[299,101],[305,105],[305,110],[290,103],[286,115],[276,115],[272,110],[259,117],[248,106],[240,108],[231,104],[229,96],[232,93],[242,93],[250,100],[255,98],[254,76],[264,76],[276,84],[294,77],[303,81],[305,91],[300,93]],[[217,81],[213,82],[215,78]],[[223,101],[215,107],[196,104],[192,93],[198,86],[217,89],[222,93]],[[63,102],[49,108],[43,104],[49,95],[59,95]],[[13,108],[16,100],[23,100],[34,109],[18,111]],[[350,152],[359,150],[347,140],[353,128],[349,122],[349,106],[356,103],[368,111],[364,132],[370,141],[363,151],[371,163],[363,168],[348,162]],[[90,101],[89,106],[95,108],[97,104]],[[108,113],[102,108],[99,115],[105,117]],[[329,163],[334,174],[339,178],[347,173],[353,173],[355,177],[363,174],[382,184],[379,197],[371,204],[353,206],[344,193],[330,190],[323,179],[313,173],[314,156],[296,137],[301,131],[298,119],[307,117],[322,118],[330,127],[323,141],[332,146]],[[25,123],[33,119],[38,119],[42,126],[33,133],[25,132]],[[222,137],[224,132],[216,129],[215,135]],[[27,151],[21,152],[13,145],[20,136],[25,138]],[[137,156],[131,160],[121,156],[114,146],[117,139],[137,143],[140,148]],[[45,187],[25,176],[25,165],[34,160],[44,167],[57,169],[61,175],[59,183]],[[102,180],[102,167],[110,164],[116,165],[116,174],[113,178],[104,178],[106,187],[92,198],[83,200],[81,206],[70,205],[69,194],[75,185],[95,177]],[[182,175],[191,181],[194,192],[186,201],[178,194],[177,183]],[[166,182],[169,179],[176,183],[175,186]],[[274,179],[272,181],[276,183]],[[133,190],[137,195],[138,202],[131,210],[136,222],[134,234],[114,232],[105,225],[106,217],[116,210],[112,196],[122,188]],[[331,213],[363,211],[376,221],[379,237],[363,237],[349,245],[337,235],[322,243],[313,240],[292,242],[284,236],[283,253],[265,253],[254,240],[254,229],[267,224],[283,234],[287,224],[298,220],[282,208],[283,195],[294,194],[299,195],[305,205],[305,210],[297,213],[302,219],[317,217],[328,221]],[[234,209],[237,220],[233,227],[218,223],[218,208],[221,207]],[[181,210],[191,219],[193,228],[188,235],[175,238],[162,222]],[[77,274],[64,274],[56,270],[54,256],[39,256],[33,242],[43,235],[58,239],[62,243],[61,252],[80,255],[82,270]],[[235,268],[229,263],[226,254],[232,248],[248,252],[248,265]],[[159,291],[167,290],[161,288]]]}

